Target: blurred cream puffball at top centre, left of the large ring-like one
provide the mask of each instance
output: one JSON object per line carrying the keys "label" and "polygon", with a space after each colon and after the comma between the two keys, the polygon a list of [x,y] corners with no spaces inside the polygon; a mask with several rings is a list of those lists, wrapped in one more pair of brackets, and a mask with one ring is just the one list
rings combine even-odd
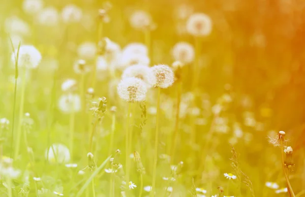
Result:
{"label": "blurred cream puffball at top centre, left of the large ring-like one", "polygon": [[152,23],[151,16],[143,10],[133,12],[129,21],[131,26],[135,29],[143,29],[150,26]]}

